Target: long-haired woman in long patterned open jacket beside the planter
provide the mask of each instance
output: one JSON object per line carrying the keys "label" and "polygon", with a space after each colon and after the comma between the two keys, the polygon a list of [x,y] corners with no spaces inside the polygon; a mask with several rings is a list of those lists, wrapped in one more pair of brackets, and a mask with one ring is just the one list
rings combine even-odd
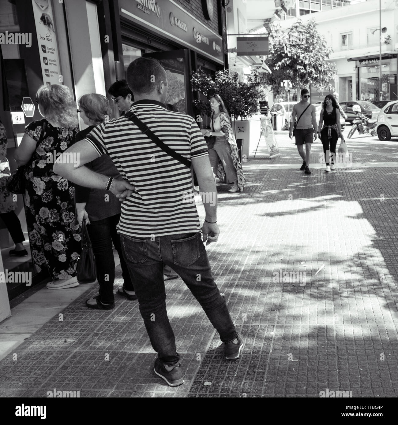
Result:
{"label": "long-haired woman in long patterned open jacket beside the planter", "polygon": [[243,192],[243,185],[246,180],[239,161],[238,147],[228,111],[223,99],[218,94],[210,98],[210,108],[212,108],[212,130],[202,130],[202,133],[204,136],[215,136],[214,143],[208,145],[213,173],[217,175],[218,164],[221,162],[221,166],[225,170],[226,182],[234,184],[229,192]]}

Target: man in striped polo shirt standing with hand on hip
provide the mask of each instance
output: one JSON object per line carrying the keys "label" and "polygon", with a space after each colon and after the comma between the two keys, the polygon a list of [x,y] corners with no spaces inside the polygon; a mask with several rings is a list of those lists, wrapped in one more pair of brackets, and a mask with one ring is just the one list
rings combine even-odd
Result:
{"label": "man in striped polo shirt standing with hand on hip", "polygon": [[[135,59],[127,68],[127,83],[135,98],[129,111],[164,144],[192,162],[206,210],[203,242],[216,242],[220,234],[217,191],[198,125],[191,116],[167,111],[166,72],[155,59]],[[243,341],[212,278],[200,237],[198,211],[190,201],[191,170],[158,147],[126,116],[98,125],[67,151],[79,155],[80,166],[54,164],[57,174],[82,186],[108,188],[123,201],[118,233],[140,313],[158,353],[155,373],[171,386],[183,383],[180,355],[166,312],[163,263],[180,275],[203,307],[225,343],[226,358],[238,358]],[[124,180],[110,181],[83,166],[104,154],[110,156]]]}

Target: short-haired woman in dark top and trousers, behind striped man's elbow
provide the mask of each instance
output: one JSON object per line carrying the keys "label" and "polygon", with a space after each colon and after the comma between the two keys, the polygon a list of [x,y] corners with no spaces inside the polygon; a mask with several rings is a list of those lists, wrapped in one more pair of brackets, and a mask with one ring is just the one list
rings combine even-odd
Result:
{"label": "short-haired woman in dark top and trousers, behind striped man's elbow", "polygon": [[[109,111],[109,101],[100,94],[85,94],[78,101],[81,118],[86,125],[86,129],[80,131],[76,136],[76,142],[83,140],[90,131],[98,124],[107,121]],[[117,168],[108,155],[100,156],[94,161],[86,164],[86,167],[100,174],[122,179]],[[120,286],[117,293],[127,297],[129,300],[136,300],[134,286],[124,261],[120,237],[117,235],[117,225],[120,220],[120,201],[113,193],[100,190],[89,189],[75,185],[77,220],[81,225],[86,220],[87,230],[92,242],[97,268],[97,280],[100,285],[99,295],[87,300],[86,306],[90,309],[110,310],[115,307],[115,297],[113,294],[113,283],[115,281],[115,259],[113,257],[112,242],[120,258],[122,268],[123,286]]]}

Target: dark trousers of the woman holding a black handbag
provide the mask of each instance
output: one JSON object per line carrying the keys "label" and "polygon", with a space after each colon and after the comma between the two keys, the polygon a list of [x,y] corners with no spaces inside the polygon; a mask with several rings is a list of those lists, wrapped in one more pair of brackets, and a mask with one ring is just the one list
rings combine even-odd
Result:
{"label": "dark trousers of the woman holding a black handbag", "polygon": [[94,251],[97,280],[100,285],[100,300],[105,304],[112,304],[115,302],[115,296],[113,294],[115,259],[113,258],[112,242],[120,258],[120,266],[122,268],[122,277],[124,280],[123,288],[126,289],[126,291],[134,291],[129,269],[123,258],[120,246],[120,236],[117,234],[116,230],[119,220],[120,214],[116,214],[112,215],[112,217],[104,218],[103,220],[91,221],[91,224],[87,225]]}

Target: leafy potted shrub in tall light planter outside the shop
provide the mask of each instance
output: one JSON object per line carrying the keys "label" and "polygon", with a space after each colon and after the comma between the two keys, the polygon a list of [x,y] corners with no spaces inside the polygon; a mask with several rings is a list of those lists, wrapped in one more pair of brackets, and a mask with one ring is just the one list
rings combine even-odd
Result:
{"label": "leafy potted shrub in tall light planter outside the shop", "polygon": [[[258,101],[263,100],[264,94],[261,89],[261,82],[258,73],[252,72],[246,81],[241,81],[238,74],[229,73],[227,69],[217,71],[212,77],[205,71],[199,69],[192,74],[192,87],[198,91],[199,99],[194,100],[194,107],[201,117],[206,115],[206,124],[211,114],[209,99],[213,94],[219,94],[231,115],[232,127],[235,131],[235,138],[242,146],[241,156],[249,156],[250,122],[248,118],[257,112]],[[203,117],[201,118],[203,121]],[[200,119],[197,119],[200,121]]]}

